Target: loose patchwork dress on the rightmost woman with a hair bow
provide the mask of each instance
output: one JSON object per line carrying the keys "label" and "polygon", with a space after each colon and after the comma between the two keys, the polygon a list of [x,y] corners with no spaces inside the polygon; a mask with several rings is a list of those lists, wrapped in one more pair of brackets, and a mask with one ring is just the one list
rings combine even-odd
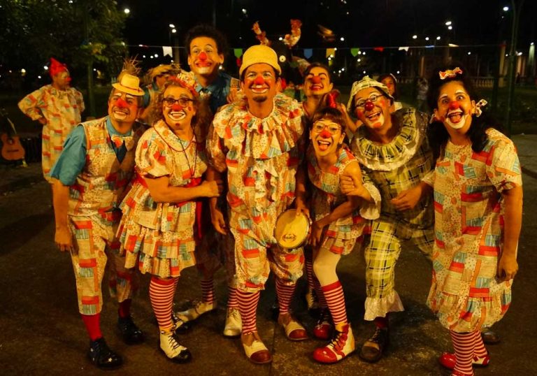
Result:
{"label": "loose patchwork dress on the rightmost woman with a hair bow", "polygon": [[513,280],[499,282],[505,203],[501,192],[522,186],[513,142],[487,130],[481,152],[447,142],[434,172],[433,283],[427,304],[445,328],[480,330],[499,321]]}

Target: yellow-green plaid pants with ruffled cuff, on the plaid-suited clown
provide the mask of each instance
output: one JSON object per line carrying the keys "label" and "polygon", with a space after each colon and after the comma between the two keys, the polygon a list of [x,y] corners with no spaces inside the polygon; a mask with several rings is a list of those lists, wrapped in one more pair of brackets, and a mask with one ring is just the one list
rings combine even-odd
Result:
{"label": "yellow-green plaid pants with ruffled cuff, on the plaid-suited clown", "polygon": [[[417,229],[417,226],[396,222],[394,219],[380,217],[373,221],[371,241],[365,250],[366,258],[366,294],[367,300],[378,301],[375,307],[380,311],[368,312],[366,301],[366,319],[375,316],[385,317],[389,311],[390,299],[395,291],[395,266],[401,253],[401,241],[412,240],[420,251],[431,259],[434,243],[434,226]],[[396,296],[399,301],[399,296]],[[371,304],[371,303],[370,303]],[[402,307],[401,307],[402,308]],[[383,312],[385,311],[385,312]]]}

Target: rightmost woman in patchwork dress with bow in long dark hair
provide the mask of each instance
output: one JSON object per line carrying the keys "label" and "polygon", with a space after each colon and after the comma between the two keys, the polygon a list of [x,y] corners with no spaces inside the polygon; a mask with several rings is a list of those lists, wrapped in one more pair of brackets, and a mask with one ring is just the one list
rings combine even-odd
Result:
{"label": "rightmost woman in patchwork dress with bow in long dark hair", "polygon": [[454,376],[487,366],[480,330],[509,308],[522,226],[522,176],[515,145],[476,103],[465,69],[435,71],[427,94],[436,157],[436,242],[427,304],[449,329],[454,354],[440,362]]}

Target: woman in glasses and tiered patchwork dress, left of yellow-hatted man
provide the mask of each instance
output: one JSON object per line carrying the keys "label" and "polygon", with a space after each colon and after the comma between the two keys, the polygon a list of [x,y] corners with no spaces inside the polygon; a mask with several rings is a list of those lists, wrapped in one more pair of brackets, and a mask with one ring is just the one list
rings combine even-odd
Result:
{"label": "woman in glasses and tiered patchwork dress, left of yellow-hatted man", "polygon": [[157,98],[159,119],[136,148],[137,178],[122,203],[118,231],[125,266],[151,273],[149,296],[160,331],[160,349],[172,361],[191,359],[178,343],[173,295],[181,270],[193,266],[201,238],[202,197],[219,196],[220,181],[203,180],[208,106],[196,93],[194,76],[181,72]]}

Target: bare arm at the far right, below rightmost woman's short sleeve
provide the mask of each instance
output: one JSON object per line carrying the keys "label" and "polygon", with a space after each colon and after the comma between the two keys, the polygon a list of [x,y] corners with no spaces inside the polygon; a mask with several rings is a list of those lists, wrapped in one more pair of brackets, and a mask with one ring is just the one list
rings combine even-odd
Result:
{"label": "bare arm at the far right, below rightmost woman's short sleeve", "polygon": [[518,270],[517,245],[522,228],[522,187],[506,189],[502,192],[506,212],[503,216],[503,250],[498,264],[498,277],[510,280]]}

